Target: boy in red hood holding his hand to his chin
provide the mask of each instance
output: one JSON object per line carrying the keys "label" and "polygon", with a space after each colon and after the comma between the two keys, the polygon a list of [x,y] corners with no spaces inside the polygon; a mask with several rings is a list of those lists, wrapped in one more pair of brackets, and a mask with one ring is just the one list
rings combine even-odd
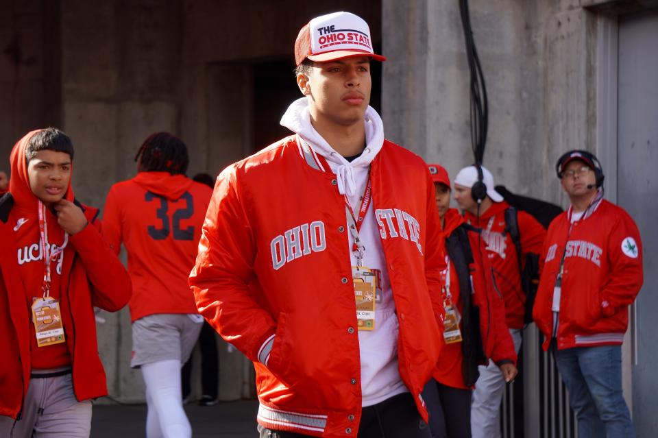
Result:
{"label": "boy in red hood holding his hand to his chin", "polygon": [[0,197],[0,436],[88,437],[91,400],[108,393],[93,307],[125,306],[130,277],[98,210],[73,197],[69,136],[29,132],[10,162]]}

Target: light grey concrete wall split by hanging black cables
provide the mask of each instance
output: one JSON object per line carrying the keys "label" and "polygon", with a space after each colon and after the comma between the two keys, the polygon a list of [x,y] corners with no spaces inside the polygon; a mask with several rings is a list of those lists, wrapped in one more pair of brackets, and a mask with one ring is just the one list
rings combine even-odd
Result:
{"label": "light grey concrete wall split by hanging black cables", "polygon": [[[563,202],[559,155],[596,143],[596,15],[572,1],[470,1],[489,97],[484,164],[497,184]],[[409,26],[407,23],[415,23]],[[450,175],[473,162],[457,1],[383,2],[387,136]]]}

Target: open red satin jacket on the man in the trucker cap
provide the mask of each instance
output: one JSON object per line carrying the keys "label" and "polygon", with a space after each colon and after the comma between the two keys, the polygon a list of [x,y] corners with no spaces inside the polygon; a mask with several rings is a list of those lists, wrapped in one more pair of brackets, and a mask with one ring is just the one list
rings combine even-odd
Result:
{"label": "open red satin jacket on the man in the trucker cap", "polygon": [[[372,211],[389,218],[378,223],[400,325],[400,376],[427,419],[420,392],[443,343],[434,186],[424,161],[389,141],[371,163],[371,183]],[[345,227],[335,175],[306,164],[294,137],[219,175],[190,283],[199,312],[254,361],[265,427],[317,437],[358,431],[361,364]],[[301,254],[287,254],[291,232]]]}

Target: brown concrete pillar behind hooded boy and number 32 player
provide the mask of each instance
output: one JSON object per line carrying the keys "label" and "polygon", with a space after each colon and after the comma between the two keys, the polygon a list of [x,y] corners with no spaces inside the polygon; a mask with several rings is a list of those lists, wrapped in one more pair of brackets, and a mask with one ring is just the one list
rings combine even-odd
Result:
{"label": "brown concrete pillar behind hooded boy and number 32 player", "polygon": [[[102,208],[110,186],[135,175],[134,156],[149,134],[180,132],[176,4],[62,2],[62,128],[76,149],[73,188],[86,204]],[[129,367],[130,314],[101,317],[110,397],[142,402],[141,373]]]}

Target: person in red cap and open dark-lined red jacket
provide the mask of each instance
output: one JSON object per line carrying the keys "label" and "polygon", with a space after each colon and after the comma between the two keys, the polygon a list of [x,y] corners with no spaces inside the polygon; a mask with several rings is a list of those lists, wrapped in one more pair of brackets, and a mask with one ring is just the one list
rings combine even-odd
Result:
{"label": "person in red cap and open dark-lined red jacket", "polygon": [[[491,358],[502,378],[511,382],[517,374],[517,357],[505,324],[504,302],[494,289],[489,258],[483,255],[480,230],[468,225],[456,208],[450,208],[448,171],[440,165],[428,165],[428,169],[445,241],[447,269],[441,276],[441,300],[446,308],[446,345],[423,396],[433,438],[470,437],[478,365]],[[468,293],[462,293],[464,290]]]}

